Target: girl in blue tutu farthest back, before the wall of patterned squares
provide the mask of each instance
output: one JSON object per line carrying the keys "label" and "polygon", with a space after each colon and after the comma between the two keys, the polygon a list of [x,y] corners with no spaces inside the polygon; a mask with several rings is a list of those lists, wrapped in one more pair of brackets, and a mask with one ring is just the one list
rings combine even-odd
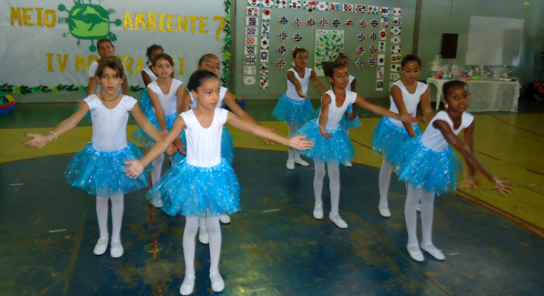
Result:
{"label": "girl in blue tutu farthest back, before the wall of patterned squares", "polygon": [[[306,68],[308,63],[306,49],[293,51],[292,60],[295,66],[287,71],[287,92],[280,97],[272,113],[272,116],[278,121],[285,121],[289,125],[289,135],[314,118],[314,108],[307,95],[309,80],[312,80],[314,87],[321,94],[326,92],[325,87],[317,80],[314,70]],[[288,169],[294,170],[295,164],[308,166],[308,163],[300,158],[299,152],[289,148],[286,166]]]}

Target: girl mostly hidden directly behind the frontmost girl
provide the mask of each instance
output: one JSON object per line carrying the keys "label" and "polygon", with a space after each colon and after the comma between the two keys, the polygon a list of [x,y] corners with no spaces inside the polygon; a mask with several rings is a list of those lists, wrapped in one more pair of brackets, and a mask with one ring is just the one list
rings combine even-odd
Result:
{"label": "girl mostly hidden directly behind the frontmost girl", "polygon": [[[197,66],[197,70],[209,70],[215,75],[219,75],[220,71],[220,61],[218,56],[215,56],[215,54],[204,54],[201,56],[199,60],[199,65]],[[247,121],[249,123],[253,123],[256,125],[261,125],[258,121],[251,116],[251,114],[244,111],[244,109],[240,108],[240,106],[237,104],[235,98],[232,96],[232,93],[227,90],[226,87],[221,87],[221,91],[219,93],[219,101],[216,106],[216,108],[221,108],[221,105],[225,102],[225,104],[229,107],[229,109],[232,111],[232,113],[235,113],[236,116],[240,117],[244,121]],[[184,100],[182,102],[182,109],[179,111],[179,113],[183,113],[185,111],[188,111],[190,109],[194,109],[196,107],[196,99],[194,99],[193,95],[189,90],[186,90],[184,93]],[[276,130],[276,128],[268,128],[269,130]],[[185,139],[185,132],[182,132],[182,136],[180,137],[180,140],[183,144],[187,143],[187,140]],[[265,139],[268,144],[273,144],[273,142],[268,142],[268,140]],[[221,157],[224,159],[227,159],[227,161],[232,164],[232,160],[234,159],[234,145],[232,144],[232,135],[227,130],[227,128],[223,127],[222,135],[221,135]],[[172,161],[175,163],[182,161],[184,158],[183,154],[180,154],[179,152],[174,155],[172,158]],[[219,216],[219,220],[223,224],[230,223],[230,216],[227,214],[221,214]],[[208,244],[210,241],[210,236],[208,235],[208,230],[206,229],[206,217],[201,217],[200,221],[200,229],[199,229],[199,241],[203,244]]]}

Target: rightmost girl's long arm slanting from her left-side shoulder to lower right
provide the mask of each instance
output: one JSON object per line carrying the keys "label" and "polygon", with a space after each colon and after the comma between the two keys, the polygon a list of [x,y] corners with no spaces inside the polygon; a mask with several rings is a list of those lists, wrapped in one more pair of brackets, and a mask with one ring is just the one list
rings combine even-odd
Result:
{"label": "rightmost girl's long arm slanting from her left-side shoulder to lower right", "polygon": [[[471,123],[471,125],[474,125],[474,122]],[[499,178],[493,177],[490,173],[487,173],[487,171],[485,171],[485,168],[483,168],[480,162],[478,162],[478,159],[476,159],[476,156],[473,154],[471,149],[468,149],[468,146],[466,145],[466,143],[463,143],[463,141],[461,141],[461,139],[459,139],[459,137],[455,135],[454,131],[451,130],[451,127],[446,121],[442,121],[442,120],[434,121],[434,123],[432,123],[432,126],[434,126],[434,128],[437,128],[438,130],[440,130],[440,132],[442,132],[444,139],[446,139],[446,141],[449,144],[456,147],[456,149],[463,156],[463,159],[465,159],[466,164],[468,164],[468,166],[471,166],[471,168],[474,171],[475,170],[480,171],[480,173],[482,173],[485,176],[485,178],[487,178],[487,180],[490,181],[490,183],[495,185],[495,188],[500,190],[502,194],[508,195],[509,193],[512,192],[512,186],[504,184],[508,180],[499,180]],[[474,127],[472,129],[474,129]]]}

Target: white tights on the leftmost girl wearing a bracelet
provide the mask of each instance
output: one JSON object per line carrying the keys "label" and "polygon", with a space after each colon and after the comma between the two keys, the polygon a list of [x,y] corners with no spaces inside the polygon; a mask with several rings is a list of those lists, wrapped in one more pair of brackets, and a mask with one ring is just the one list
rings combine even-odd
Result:
{"label": "white tights on the leftmost girl wearing a bracelet", "polygon": [[124,211],[124,195],[112,195],[108,197],[96,197],[96,216],[98,218],[98,229],[100,238],[107,238],[107,208],[108,199],[112,200],[112,240],[121,239],[121,225]]}

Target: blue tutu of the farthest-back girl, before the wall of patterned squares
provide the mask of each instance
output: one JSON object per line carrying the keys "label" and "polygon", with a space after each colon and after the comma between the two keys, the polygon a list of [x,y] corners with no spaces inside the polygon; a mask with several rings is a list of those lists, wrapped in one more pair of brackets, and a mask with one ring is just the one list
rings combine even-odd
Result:
{"label": "blue tutu of the farthest-back girl, before the wall of patterned squares", "polygon": [[278,121],[285,121],[290,125],[303,125],[314,118],[314,107],[309,99],[304,101],[295,101],[290,99],[287,94],[283,94],[276,108],[272,112],[272,116]]}

